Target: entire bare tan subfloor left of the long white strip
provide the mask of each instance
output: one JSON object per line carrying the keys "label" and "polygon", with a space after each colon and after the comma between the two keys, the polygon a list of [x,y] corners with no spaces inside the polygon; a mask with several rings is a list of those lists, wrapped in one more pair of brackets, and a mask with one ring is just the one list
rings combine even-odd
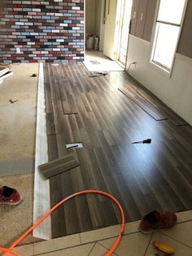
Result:
{"label": "entire bare tan subfloor left of the long white strip", "polygon": [[[0,244],[10,245],[33,223],[38,64],[13,64],[13,75],[0,85],[0,186],[24,197],[14,207],[0,205]],[[31,77],[37,73],[37,77]],[[11,104],[11,100],[16,100]],[[24,241],[34,241],[32,236]]]}

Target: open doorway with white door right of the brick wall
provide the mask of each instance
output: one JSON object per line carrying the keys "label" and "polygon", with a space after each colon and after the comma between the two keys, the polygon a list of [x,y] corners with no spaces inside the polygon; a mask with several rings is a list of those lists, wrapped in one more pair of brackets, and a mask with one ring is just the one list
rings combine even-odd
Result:
{"label": "open doorway with white door right of the brick wall", "polygon": [[[100,60],[111,60],[125,66],[129,38],[129,21],[133,0],[85,0],[85,62],[95,68]],[[98,42],[98,44],[97,44]],[[103,57],[102,57],[103,56]],[[103,62],[103,66],[106,62]],[[110,64],[110,62],[108,62]],[[94,68],[94,67],[92,67]],[[109,66],[108,66],[109,68]],[[119,71],[119,68],[115,68]]]}

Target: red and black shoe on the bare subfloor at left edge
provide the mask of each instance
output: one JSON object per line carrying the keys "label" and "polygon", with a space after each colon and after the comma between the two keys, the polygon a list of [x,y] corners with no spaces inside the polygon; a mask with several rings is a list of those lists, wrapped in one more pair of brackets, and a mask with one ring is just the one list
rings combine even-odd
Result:
{"label": "red and black shoe on the bare subfloor at left edge", "polygon": [[9,188],[7,186],[0,188],[0,204],[18,205],[20,201],[22,201],[22,197],[14,188]]}

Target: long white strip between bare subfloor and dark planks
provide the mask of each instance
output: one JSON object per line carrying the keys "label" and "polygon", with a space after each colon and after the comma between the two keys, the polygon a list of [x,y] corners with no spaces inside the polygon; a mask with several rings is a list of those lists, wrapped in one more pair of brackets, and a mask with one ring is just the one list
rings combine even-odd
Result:
{"label": "long white strip between bare subfloor and dark planks", "polygon": [[[35,152],[35,178],[34,178],[34,201],[33,223],[36,223],[43,214],[50,210],[50,182],[41,177],[38,166],[48,161],[48,149],[46,138],[46,104],[44,91],[43,64],[39,64],[38,94],[37,94],[37,133]],[[49,240],[51,238],[50,217],[36,227],[33,236]]]}

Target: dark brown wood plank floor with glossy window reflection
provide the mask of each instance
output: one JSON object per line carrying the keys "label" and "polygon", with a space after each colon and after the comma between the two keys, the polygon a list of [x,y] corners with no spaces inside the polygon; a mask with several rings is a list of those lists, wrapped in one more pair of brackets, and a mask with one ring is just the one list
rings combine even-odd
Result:
{"label": "dark brown wood plank floor with glossy window reflection", "polygon": [[[118,88],[142,91],[126,73],[89,78],[81,63],[45,64],[44,70],[49,160],[73,153],[80,163],[50,178],[51,205],[74,192],[100,189],[120,201],[126,222],[151,210],[192,209],[190,126],[156,121],[124,96]],[[151,144],[132,144],[148,138]],[[66,148],[80,142],[84,148]],[[119,221],[116,205],[107,198],[80,196],[52,214],[52,236]]]}

